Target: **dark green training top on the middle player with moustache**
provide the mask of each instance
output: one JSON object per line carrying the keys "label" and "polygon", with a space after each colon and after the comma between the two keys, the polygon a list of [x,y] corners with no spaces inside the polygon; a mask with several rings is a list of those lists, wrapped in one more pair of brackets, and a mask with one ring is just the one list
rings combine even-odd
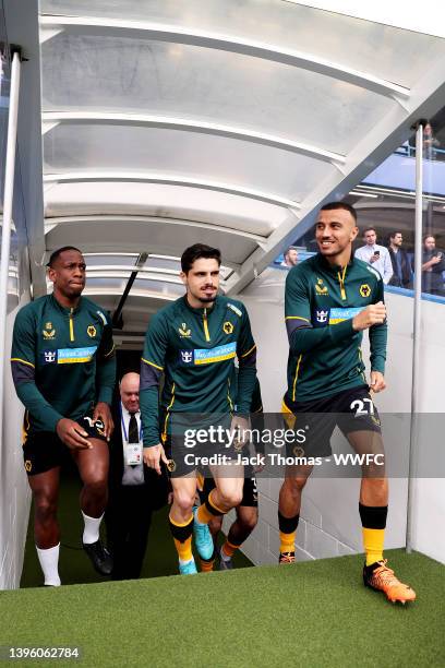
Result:
{"label": "dark green training top on the middle player with moustache", "polygon": [[[231,387],[238,357],[238,392]],[[141,365],[141,416],[144,446],[160,442],[158,385],[166,432],[170,413],[249,414],[256,377],[256,346],[245,307],[218,296],[211,309],[194,309],[185,297],[154,315],[145,336]]]}

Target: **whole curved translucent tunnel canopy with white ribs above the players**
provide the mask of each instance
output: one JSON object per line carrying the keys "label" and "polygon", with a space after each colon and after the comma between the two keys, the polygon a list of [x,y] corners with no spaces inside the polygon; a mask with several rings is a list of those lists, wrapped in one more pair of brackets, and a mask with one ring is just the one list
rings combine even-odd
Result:
{"label": "whole curved translucent tunnel canopy with white ribs above the players", "polygon": [[443,104],[445,39],[296,2],[40,12],[47,250],[98,253],[87,293],[110,310],[148,254],[125,330],[182,293],[178,258],[196,241],[242,289]]}

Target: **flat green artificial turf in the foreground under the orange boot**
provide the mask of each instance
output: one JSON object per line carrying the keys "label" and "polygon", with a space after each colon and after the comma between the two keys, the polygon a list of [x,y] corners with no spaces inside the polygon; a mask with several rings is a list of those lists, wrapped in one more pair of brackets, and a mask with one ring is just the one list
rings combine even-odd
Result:
{"label": "flat green artificial turf in the foreground under the orange boot", "polygon": [[363,587],[361,556],[340,557],[2,592],[1,644],[79,645],[92,667],[444,666],[445,568],[387,557],[416,603],[388,603]]}

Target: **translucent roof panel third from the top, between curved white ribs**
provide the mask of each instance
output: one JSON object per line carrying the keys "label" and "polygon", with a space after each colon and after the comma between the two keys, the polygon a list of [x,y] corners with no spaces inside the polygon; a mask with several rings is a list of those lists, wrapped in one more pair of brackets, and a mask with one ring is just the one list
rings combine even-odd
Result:
{"label": "translucent roof panel third from the top, between curved white ribs", "polygon": [[111,124],[63,123],[45,135],[44,154],[50,174],[94,169],[187,175],[297,201],[329,169],[326,163],[250,142]]}

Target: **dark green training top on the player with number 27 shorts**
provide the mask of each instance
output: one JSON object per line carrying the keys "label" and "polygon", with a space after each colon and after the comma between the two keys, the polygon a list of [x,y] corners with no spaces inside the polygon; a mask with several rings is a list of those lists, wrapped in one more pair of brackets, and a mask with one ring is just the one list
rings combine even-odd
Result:
{"label": "dark green training top on the player with number 27 shorts", "polygon": [[[360,349],[363,334],[352,329],[352,319],[383,300],[380,273],[357,258],[341,269],[317,253],[289,272],[285,300],[289,408],[296,402],[366,384]],[[370,327],[369,335],[371,370],[384,373],[386,322]]]}

